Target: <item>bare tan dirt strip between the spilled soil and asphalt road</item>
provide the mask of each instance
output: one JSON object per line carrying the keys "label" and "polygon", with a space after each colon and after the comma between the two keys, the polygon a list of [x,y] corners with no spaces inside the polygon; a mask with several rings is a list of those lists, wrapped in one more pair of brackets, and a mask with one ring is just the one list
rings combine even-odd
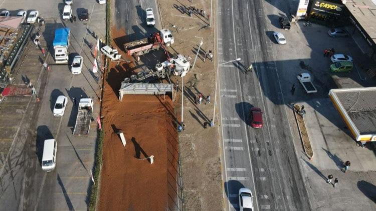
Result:
{"label": "bare tan dirt strip between the spilled soil and asphalt road", "polygon": [[[191,56],[193,65],[198,45],[203,37],[203,45],[194,69],[184,77],[184,123],[185,130],[179,133],[180,163],[183,176],[184,207],[186,210],[222,210],[222,177],[219,146],[219,127],[204,128],[213,118],[215,90],[215,59],[211,62],[204,55],[210,49],[215,52],[214,20],[212,27],[207,27],[210,20],[211,1],[194,0],[157,0],[163,27],[172,30],[175,43],[171,46],[176,52]],[[183,13],[181,6],[195,6],[206,11],[200,14]],[[215,10],[213,1],[213,11]],[[212,15],[214,16],[214,15]],[[174,25],[175,27],[173,27]],[[197,37],[196,37],[197,36]],[[215,53],[214,53],[215,54]],[[181,78],[179,87],[181,87]],[[191,87],[191,82],[195,86]],[[204,99],[211,95],[212,103],[195,103],[195,97],[202,93]],[[176,113],[180,120],[181,92],[178,92]],[[205,101],[205,100],[204,100]],[[217,112],[218,113],[218,112]],[[216,119],[218,117],[216,116]]]}

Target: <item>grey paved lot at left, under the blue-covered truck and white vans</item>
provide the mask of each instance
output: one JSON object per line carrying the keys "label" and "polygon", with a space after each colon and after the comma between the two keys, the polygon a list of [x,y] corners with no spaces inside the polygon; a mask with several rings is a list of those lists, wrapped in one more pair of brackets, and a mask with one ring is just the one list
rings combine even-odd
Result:
{"label": "grey paved lot at left, under the blue-covered truck and white vans", "polygon": [[[78,18],[73,23],[61,20],[59,11],[64,6],[63,1],[36,0],[33,4],[34,8],[26,8],[33,5],[25,0],[5,0],[0,8],[8,9],[12,14],[19,9],[38,9],[41,16],[46,18],[46,24],[40,31],[41,45],[47,46],[49,53],[53,53],[55,28],[69,27],[70,61],[78,53],[84,57],[84,65],[81,74],[72,75],[69,65],[54,65],[52,56],[48,54],[47,62],[51,65],[51,71],[45,72],[38,60],[42,53],[29,41],[31,48],[20,74],[27,74],[36,85],[41,101],[36,103],[35,98],[9,97],[2,105],[0,115],[7,119],[3,121],[2,117],[1,125],[9,127],[9,132],[1,138],[9,139],[7,144],[13,142],[13,145],[0,171],[0,210],[86,210],[97,137],[94,119],[99,115],[100,108],[99,84],[90,71],[94,58],[87,44],[96,41],[89,34],[91,31],[95,31],[99,37],[105,37],[105,4],[100,5],[94,0],[74,1],[74,15],[80,8],[89,10],[89,20],[85,24]],[[23,83],[20,74],[16,77],[16,83]],[[67,108],[64,116],[54,117],[52,109],[57,96],[61,94],[69,99]],[[72,99],[79,99],[81,95],[93,97],[95,102],[88,137],[72,135],[77,116],[77,106],[74,106]],[[49,137],[56,138],[58,142],[57,166],[52,172],[44,172],[39,161],[40,143]]]}

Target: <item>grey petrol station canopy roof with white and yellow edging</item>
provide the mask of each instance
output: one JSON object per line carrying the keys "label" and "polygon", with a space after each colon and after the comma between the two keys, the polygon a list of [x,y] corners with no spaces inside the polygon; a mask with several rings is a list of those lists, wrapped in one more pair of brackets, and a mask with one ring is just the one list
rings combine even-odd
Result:
{"label": "grey petrol station canopy roof with white and yellow edging", "polygon": [[376,87],[331,89],[360,134],[376,133]]}

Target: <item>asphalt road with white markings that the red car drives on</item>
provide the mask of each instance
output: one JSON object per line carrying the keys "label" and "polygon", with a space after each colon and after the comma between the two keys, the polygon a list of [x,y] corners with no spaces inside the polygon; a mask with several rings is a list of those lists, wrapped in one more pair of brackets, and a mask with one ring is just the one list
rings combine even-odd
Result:
{"label": "asphalt road with white markings that the red car drives on", "polygon": [[[242,59],[218,69],[227,209],[238,207],[245,186],[255,210],[310,210],[262,1],[220,1],[217,15],[219,64]],[[245,74],[250,63],[254,71]],[[249,126],[251,107],[263,110],[262,129]]]}

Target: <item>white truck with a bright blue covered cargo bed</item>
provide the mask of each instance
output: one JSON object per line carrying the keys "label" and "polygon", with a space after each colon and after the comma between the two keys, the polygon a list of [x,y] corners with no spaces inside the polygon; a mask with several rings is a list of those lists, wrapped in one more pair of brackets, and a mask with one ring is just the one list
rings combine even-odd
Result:
{"label": "white truck with a bright blue covered cargo bed", "polygon": [[57,28],[55,30],[53,45],[55,51],[54,58],[56,63],[68,63],[69,36],[69,28]]}

